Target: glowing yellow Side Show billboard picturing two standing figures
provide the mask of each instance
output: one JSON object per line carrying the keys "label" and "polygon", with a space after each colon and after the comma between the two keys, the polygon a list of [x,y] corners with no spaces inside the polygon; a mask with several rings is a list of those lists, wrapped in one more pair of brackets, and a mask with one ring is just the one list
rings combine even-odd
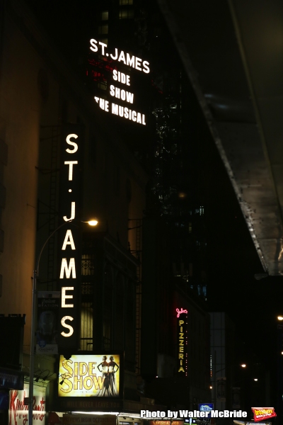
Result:
{"label": "glowing yellow Side Show billboard picturing two standing figures", "polygon": [[59,377],[59,397],[119,397],[120,355],[60,356]]}

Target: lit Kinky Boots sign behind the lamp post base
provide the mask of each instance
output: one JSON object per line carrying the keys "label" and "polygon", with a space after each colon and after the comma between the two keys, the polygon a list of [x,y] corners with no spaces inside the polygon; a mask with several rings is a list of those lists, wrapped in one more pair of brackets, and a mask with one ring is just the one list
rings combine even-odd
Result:
{"label": "lit Kinky Boots sign behind the lamp post base", "polygon": [[[25,398],[28,397],[28,385],[23,390],[11,390],[8,412],[8,425],[28,424],[28,405]],[[33,387],[33,425],[45,424],[45,387]]]}

